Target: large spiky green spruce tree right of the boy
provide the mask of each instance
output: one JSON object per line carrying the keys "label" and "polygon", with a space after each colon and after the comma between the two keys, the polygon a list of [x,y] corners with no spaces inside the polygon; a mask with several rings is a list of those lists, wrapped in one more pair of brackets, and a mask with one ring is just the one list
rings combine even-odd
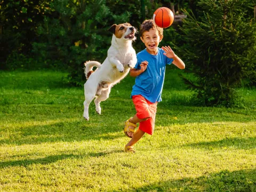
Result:
{"label": "large spiky green spruce tree right of the boy", "polygon": [[234,103],[234,89],[245,77],[255,75],[256,25],[248,17],[250,1],[199,1],[203,17],[188,13],[182,31],[186,49],[183,58],[197,78],[185,78],[206,106]]}

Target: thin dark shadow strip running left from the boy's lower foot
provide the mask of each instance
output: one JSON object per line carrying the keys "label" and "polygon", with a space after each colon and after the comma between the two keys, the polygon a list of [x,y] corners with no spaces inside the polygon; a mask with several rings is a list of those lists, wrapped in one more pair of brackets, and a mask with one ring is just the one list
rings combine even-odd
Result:
{"label": "thin dark shadow strip running left from the boy's lower foot", "polygon": [[1,162],[0,168],[4,167],[11,167],[11,166],[29,166],[32,164],[41,164],[41,165],[47,165],[51,164],[63,159],[81,159],[86,157],[101,157],[106,156],[108,154],[113,153],[123,153],[122,150],[111,150],[111,151],[101,151],[101,152],[95,152],[95,153],[87,153],[82,155],[75,155],[75,154],[61,154],[61,155],[51,155],[44,158],[37,158],[37,159],[23,159],[19,161],[6,161]]}

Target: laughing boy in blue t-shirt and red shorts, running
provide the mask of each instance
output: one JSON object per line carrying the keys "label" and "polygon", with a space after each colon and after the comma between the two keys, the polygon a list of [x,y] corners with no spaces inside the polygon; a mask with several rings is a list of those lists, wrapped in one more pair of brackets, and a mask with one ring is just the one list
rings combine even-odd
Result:
{"label": "laughing boy in blue t-shirt and red shorts, running", "polygon": [[[130,70],[130,75],[136,77],[131,98],[137,114],[128,119],[124,127],[124,133],[132,138],[126,144],[125,151],[133,153],[133,145],[145,132],[153,134],[157,103],[162,101],[165,65],[173,63],[178,68],[185,69],[185,64],[170,46],[164,46],[162,49],[158,47],[163,39],[163,28],[156,26],[153,20],[143,21],[140,35],[146,49],[137,54],[137,64]],[[139,129],[134,133],[137,123],[140,123]]]}

